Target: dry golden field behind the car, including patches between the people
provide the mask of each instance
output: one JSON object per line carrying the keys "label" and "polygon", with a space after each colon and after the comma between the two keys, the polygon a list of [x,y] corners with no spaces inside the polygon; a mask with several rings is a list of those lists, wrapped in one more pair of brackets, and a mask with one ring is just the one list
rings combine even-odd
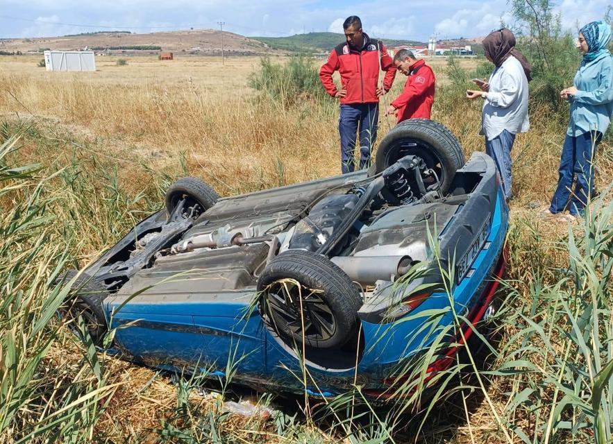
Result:
{"label": "dry golden field behind the car, including patches between the people", "polygon": [[[33,119],[67,148],[78,144],[79,156],[95,155],[108,168],[117,167],[121,185],[130,192],[152,191],[152,171],[199,176],[224,196],[339,173],[337,105],[329,101],[322,108],[307,100],[283,108],[255,100],[248,82],[259,58],[226,58],[222,65],[215,57],[164,62],[134,57],[117,66],[117,58],[105,56],[96,57],[95,72],[83,73],[47,72],[36,66],[39,60],[0,57],[0,119]],[[465,69],[478,63],[473,58],[459,62]],[[446,60],[428,63],[439,86],[446,85]],[[396,74],[392,92],[381,101],[378,140],[396,123],[383,110],[404,79]],[[437,94],[433,119],[451,128],[467,157],[483,151],[481,103],[467,101],[460,92]],[[530,120],[532,130],[517,137],[512,152],[511,210],[527,216],[534,213],[528,203],[544,204],[553,193],[566,125],[551,119],[546,108],[532,107]],[[610,142],[601,146],[605,155],[599,168],[610,171]],[[64,162],[67,152],[58,151]],[[598,182],[605,187],[606,175]]]}

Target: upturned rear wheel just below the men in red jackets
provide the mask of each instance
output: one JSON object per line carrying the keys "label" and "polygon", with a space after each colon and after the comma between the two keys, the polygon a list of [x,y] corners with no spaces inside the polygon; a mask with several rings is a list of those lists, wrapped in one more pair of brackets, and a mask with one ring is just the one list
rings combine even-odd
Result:
{"label": "upturned rear wheel just below the men in red jackets", "polygon": [[382,172],[405,155],[421,157],[435,171],[442,193],[451,186],[455,171],[464,166],[460,142],[444,125],[428,119],[409,119],[392,128],[379,144],[371,175]]}

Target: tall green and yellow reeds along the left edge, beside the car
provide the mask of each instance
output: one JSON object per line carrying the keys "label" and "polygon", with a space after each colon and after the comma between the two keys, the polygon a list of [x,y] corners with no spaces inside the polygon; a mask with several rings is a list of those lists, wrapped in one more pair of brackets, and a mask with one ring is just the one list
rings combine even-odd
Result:
{"label": "tall green and yellow reeds along the left edge, beside the car", "polygon": [[0,145],[0,201],[10,202],[0,216],[0,441],[87,443],[115,386],[91,341],[76,362],[50,365],[69,288],[53,282],[68,250],[53,241],[51,178],[34,176],[40,165],[10,165],[18,142]]}

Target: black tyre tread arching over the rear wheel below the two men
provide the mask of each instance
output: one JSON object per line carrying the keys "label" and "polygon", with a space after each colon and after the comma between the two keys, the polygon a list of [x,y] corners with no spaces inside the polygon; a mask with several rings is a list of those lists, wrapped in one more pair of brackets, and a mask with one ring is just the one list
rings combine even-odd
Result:
{"label": "black tyre tread arching over the rear wheel below the two men", "polygon": [[[423,142],[435,148],[437,151],[436,155],[441,160],[442,168],[445,172],[441,189],[443,193],[446,193],[451,185],[455,171],[464,166],[464,151],[455,135],[451,133],[451,130],[442,123],[432,120],[408,119],[392,128],[379,144],[373,173],[380,173],[390,166],[387,164],[388,151],[396,144],[398,139],[403,138],[423,140]],[[374,174],[371,174],[371,176]]]}

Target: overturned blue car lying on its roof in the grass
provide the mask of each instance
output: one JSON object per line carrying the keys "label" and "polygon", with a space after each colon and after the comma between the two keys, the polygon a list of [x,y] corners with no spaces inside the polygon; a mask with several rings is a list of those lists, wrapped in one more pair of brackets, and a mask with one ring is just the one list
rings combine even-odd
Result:
{"label": "overturned blue car lying on its roof in the grass", "polygon": [[435,341],[429,313],[464,320],[429,374],[487,315],[507,218],[492,159],[464,164],[449,130],[409,120],[369,171],[229,198],[178,180],[164,210],[78,275],[66,310],[98,345],[116,329],[112,350],[149,366],[378,397]]}

